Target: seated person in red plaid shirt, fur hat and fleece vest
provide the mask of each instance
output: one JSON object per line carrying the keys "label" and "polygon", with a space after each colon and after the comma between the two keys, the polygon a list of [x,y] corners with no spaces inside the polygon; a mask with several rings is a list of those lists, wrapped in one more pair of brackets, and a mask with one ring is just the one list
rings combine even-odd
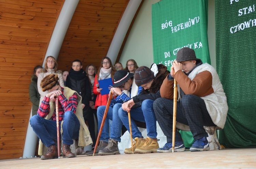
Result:
{"label": "seated person in red plaid shirt, fur hat and fleece vest", "polygon": [[39,145],[41,159],[58,157],[54,140],[57,140],[56,106],[58,98],[59,127],[62,130],[63,157],[71,158],[75,155],[70,150],[72,139],[78,139],[80,147],[92,144],[90,133],[83,119],[82,98],[77,92],[68,87],[62,88],[58,82],[57,74],[49,74],[41,81],[42,91],[48,91],[38,109],[38,115],[30,119],[31,127],[42,143],[48,147],[46,155],[42,155],[42,145]]}

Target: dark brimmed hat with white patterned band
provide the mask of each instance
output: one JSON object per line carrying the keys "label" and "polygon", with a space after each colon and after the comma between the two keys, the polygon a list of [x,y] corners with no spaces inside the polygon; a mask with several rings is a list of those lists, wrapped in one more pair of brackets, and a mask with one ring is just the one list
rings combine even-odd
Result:
{"label": "dark brimmed hat with white patterned band", "polygon": [[128,73],[127,71],[124,71],[124,70],[117,71],[114,74],[114,84],[113,84],[113,87],[116,88],[118,86],[121,86],[127,80],[129,80],[133,75],[134,75],[134,73]]}

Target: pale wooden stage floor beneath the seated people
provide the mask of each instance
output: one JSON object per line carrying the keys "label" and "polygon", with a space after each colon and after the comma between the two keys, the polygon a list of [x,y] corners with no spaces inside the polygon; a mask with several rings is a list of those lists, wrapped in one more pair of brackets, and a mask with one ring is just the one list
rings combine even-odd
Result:
{"label": "pale wooden stage floor beneath the seated people", "polygon": [[78,155],[75,158],[41,160],[38,158],[0,160],[0,169],[20,168],[92,168],[92,169],[256,169],[256,148],[219,151],[120,154],[107,156]]}

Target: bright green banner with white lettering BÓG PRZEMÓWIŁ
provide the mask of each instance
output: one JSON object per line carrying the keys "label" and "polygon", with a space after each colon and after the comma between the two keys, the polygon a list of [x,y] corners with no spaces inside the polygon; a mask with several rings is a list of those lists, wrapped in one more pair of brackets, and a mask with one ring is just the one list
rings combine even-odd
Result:
{"label": "bright green banner with white lettering B\u00d3G PRZEM\u00d3WI\u0141", "polygon": [[152,5],[154,63],[171,67],[182,47],[211,64],[208,36],[208,0],[162,0]]}

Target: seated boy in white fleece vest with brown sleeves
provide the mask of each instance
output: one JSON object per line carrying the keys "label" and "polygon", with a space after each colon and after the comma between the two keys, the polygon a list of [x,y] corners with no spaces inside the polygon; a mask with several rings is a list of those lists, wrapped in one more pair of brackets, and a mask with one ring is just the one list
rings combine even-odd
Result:
{"label": "seated boy in white fleece vest with brown sleeves", "polygon": [[[174,74],[174,72],[176,72]],[[178,83],[176,107],[176,128],[178,124],[189,126],[194,137],[190,151],[210,150],[208,134],[203,126],[224,127],[228,111],[227,98],[215,69],[196,58],[195,51],[184,47],[177,52],[171,66],[171,73],[165,78],[160,89],[162,98],[153,104],[156,119],[167,143],[157,152],[172,152],[173,86]],[[181,134],[175,132],[174,151],[185,151]]]}

